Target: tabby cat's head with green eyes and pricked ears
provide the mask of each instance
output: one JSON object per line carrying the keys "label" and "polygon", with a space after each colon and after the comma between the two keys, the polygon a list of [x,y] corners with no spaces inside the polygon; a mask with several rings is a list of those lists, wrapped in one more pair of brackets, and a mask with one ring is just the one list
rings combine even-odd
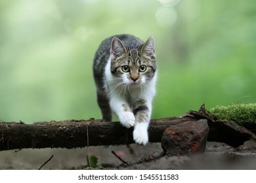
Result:
{"label": "tabby cat's head with green eyes and pricked ears", "polygon": [[126,46],[114,37],[111,43],[111,73],[125,84],[144,84],[156,73],[154,39],[149,37],[136,48]]}

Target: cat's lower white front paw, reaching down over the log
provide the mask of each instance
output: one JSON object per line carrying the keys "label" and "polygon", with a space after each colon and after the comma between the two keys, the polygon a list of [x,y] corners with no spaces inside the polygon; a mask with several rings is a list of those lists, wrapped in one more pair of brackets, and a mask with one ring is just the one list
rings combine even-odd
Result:
{"label": "cat's lower white front paw, reaching down over the log", "polygon": [[140,145],[148,143],[148,124],[138,123],[133,130],[133,140]]}

